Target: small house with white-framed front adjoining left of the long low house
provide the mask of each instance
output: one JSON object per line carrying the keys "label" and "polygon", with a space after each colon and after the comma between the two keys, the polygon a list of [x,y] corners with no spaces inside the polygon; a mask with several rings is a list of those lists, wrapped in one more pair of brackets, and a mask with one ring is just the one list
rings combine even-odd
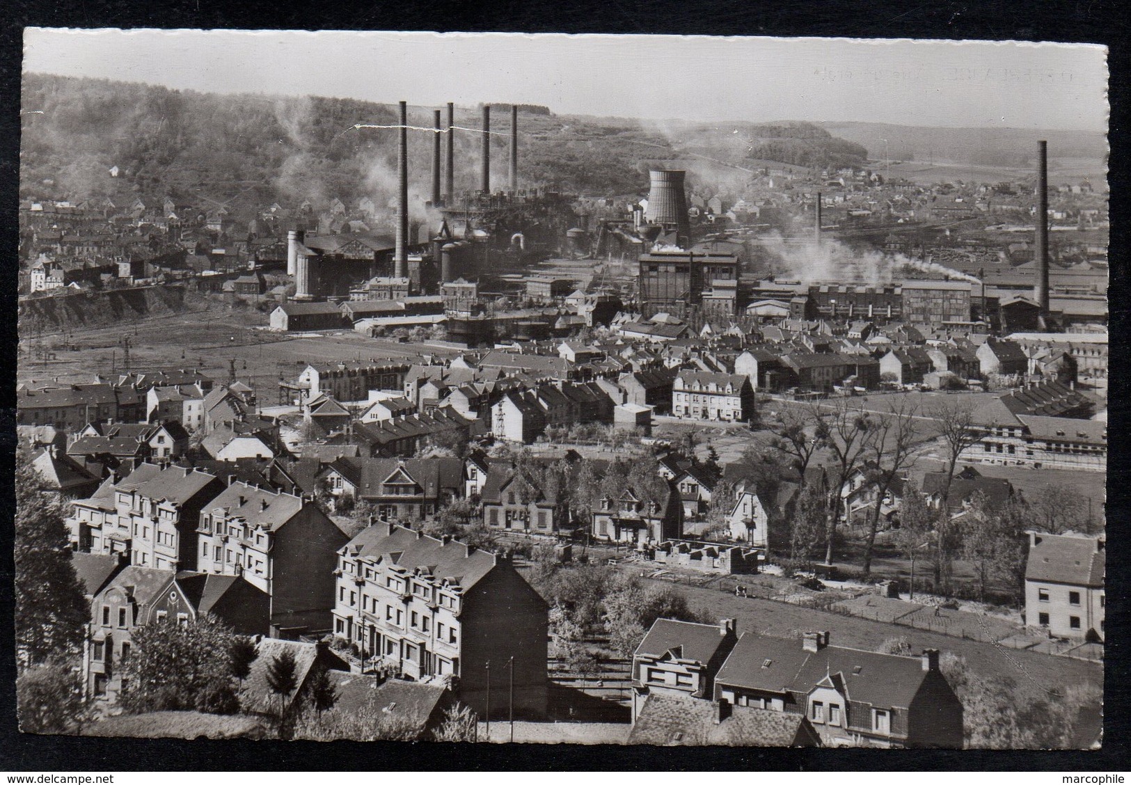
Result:
{"label": "small house with white-framed front adjoining left of the long low house", "polygon": [[715,675],[737,642],[734,619],[697,624],[657,619],[632,653],[632,719],[650,696],[710,701]]}

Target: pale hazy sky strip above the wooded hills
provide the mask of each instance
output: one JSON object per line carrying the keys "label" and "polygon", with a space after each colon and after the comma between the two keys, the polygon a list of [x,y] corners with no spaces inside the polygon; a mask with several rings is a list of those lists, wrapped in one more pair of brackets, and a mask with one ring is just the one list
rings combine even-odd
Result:
{"label": "pale hazy sky strip above the wooded hills", "polygon": [[24,69],[649,119],[1107,129],[1106,51],[1080,44],[28,28]]}

